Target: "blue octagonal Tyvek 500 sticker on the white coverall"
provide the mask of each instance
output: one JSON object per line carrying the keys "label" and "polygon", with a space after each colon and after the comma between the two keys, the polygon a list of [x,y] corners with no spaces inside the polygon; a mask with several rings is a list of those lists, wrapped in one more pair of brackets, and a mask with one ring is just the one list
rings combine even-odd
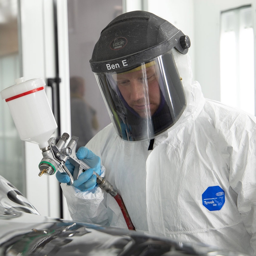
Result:
{"label": "blue octagonal Tyvek 500 sticker on the white coverall", "polygon": [[218,211],[225,203],[225,192],[220,186],[208,187],[202,194],[202,202],[209,211]]}

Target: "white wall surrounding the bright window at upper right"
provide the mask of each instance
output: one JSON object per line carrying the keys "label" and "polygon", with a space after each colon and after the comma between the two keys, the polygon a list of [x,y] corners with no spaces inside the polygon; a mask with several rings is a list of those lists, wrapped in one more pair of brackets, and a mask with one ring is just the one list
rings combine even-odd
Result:
{"label": "white wall surrounding the bright window at upper right", "polygon": [[194,78],[201,84],[206,98],[220,100],[220,12],[247,4],[252,4],[255,19],[253,0],[194,0]]}

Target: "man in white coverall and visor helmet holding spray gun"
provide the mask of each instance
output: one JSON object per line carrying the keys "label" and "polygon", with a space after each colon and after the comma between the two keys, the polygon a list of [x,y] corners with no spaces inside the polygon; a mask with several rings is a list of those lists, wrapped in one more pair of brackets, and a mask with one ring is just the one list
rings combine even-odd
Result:
{"label": "man in white coverall and visor helmet holding spray gun", "polygon": [[62,189],[74,220],[126,228],[94,170],[118,190],[137,231],[252,255],[255,118],[204,99],[189,46],[148,12],[124,13],[103,29],[90,63],[112,124],[77,152],[92,169]]}

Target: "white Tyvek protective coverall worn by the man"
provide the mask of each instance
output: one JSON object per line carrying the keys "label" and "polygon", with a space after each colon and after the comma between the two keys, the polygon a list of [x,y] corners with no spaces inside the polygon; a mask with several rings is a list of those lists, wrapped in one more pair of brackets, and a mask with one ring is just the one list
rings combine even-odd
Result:
{"label": "white Tyvek protective coverall worn by the man", "polygon": [[[194,82],[182,122],[157,137],[153,150],[149,141],[119,139],[112,124],[87,147],[100,156],[137,231],[255,254],[255,121],[205,100]],[[218,211],[203,205],[204,191],[213,186],[225,192]],[[127,228],[115,199],[99,187],[62,189],[73,220]]]}

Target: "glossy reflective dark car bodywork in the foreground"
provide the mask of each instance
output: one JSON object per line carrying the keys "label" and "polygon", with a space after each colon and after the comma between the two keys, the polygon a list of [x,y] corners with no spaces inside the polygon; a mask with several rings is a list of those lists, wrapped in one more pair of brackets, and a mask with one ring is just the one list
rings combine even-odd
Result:
{"label": "glossy reflective dark car bodywork in the foreground", "polygon": [[203,244],[174,241],[128,229],[39,215],[20,191],[0,176],[0,255],[38,256],[243,256]]}

